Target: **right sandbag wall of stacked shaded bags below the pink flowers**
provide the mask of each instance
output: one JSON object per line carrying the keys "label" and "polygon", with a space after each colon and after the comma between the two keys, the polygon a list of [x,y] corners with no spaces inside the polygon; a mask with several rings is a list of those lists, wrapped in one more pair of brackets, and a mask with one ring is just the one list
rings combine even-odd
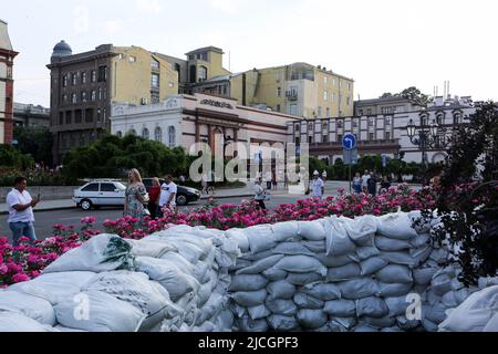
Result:
{"label": "right sandbag wall of stacked shaded bags below the pink flowers", "polygon": [[[331,217],[227,231],[242,257],[230,268],[239,331],[437,331],[476,289],[444,268],[419,212]],[[422,302],[422,313],[407,308]],[[419,320],[417,320],[419,319]]]}

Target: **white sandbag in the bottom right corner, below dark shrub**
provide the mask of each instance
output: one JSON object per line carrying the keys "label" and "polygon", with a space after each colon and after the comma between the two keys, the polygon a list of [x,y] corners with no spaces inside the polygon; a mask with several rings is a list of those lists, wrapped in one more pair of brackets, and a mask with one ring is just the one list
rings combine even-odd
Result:
{"label": "white sandbag in the bottom right corner, below dark shrub", "polygon": [[483,332],[498,313],[498,287],[471,294],[439,325],[449,332]]}

